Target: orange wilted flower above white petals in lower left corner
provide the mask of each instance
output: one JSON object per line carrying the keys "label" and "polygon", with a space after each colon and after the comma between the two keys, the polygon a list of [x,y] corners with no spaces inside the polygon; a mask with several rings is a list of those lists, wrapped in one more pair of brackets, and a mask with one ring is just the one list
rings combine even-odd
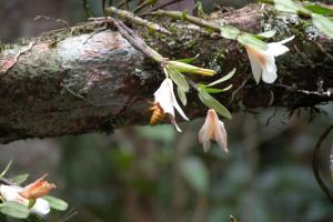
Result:
{"label": "orange wilted flower above white petals in lower left corner", "polygon": [[26,199],[38,199],[47,195],[51,190],[56,189],[56,185],[46,181],[46,176],[47,174],[27,185],[22,191],[20,191],[20,195]]}

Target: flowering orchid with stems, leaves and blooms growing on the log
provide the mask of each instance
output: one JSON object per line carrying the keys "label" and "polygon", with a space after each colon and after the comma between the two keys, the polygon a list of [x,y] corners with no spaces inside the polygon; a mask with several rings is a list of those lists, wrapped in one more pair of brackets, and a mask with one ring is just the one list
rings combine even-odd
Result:
{"label": "flowering orchid with stems, leaves and blooms growing on the log", "polygon": [[[332,37],[332,21],[314,12],[323,10],[317,10],[317,8],[313,8],[313,6],[304,7],[300,2],[294,2],[292,0],[264,0],[262,2],[275,4],[276,10],[279,11],[307,14],[313,19],[313,23],[315,27],[317,27],[329,37]],[[154,3],[157,3],[157,1],[154,1],[152,4]],[[329,9],[325,10],[327,11]],[[149,29],[154,29],[155,31],[161,32],[163,34],[170,34],[170,32],[163,27],[160,27],[159,24],[153,24],[150,21],[142,20],[142,18],[137,17],[134,13],[122,11],[114,7],[107,8],[105,12],[109,16],[125,19],[134,24],[143,26]],[[253,79],[258,84],[261,80],[268,84],[272,84],[276,81],[278,67],[275,63],[275,58],[286,53],[289,51],[289,48],[284,44],[286,44],[295,38],[294,36],[291,36],[278,42],[265,42],[265,39],[274,37],[276,32],[275,30],[269,30],[263,33],[252,34],[230,24],[221,26],[211,21],[205,21],[201,18],[189,16],[184,11],[164,11],[159,9],[149,11],[144,14],[153,17],[169,17],[172,19],[188,21],[199,27],[213,30],[214,32],[220,34],[221,38],[236,41],[238,43],[243,46],[245,51],[248,52]],[[216,89],[212,87],[231,79],[233,74],[235,74],[235,69],[209,84],[194,83],[189,74],[200,74],[209,78],[218,73],[211,69],[189,64],[194,59],[191,58],[178,61],[163,58],[157,51],[147,46],[141,38],[137,37],[133,32],[131,32],[131,30],[127,28],[123,23],[119,22],[117,19],[114,19],[113,22],[117,24],[119,31],[130,41],[130,43],[132,43],[132,46],[141,50],[155,62],[160,63],[161,70],[165,74],[165,79],[162,81],[161,85],[157,89],[157,91],[153,94],[154,102],[150,109],[152,110],[152,118],[150,123],[157,124],[164,118],[165,114],[168,114],[170,122],[174,125],[175,130],[181,132],[181,129],[175,121],[174,109],[178,111],[178,113],[182,117],[183,120],[188,121],[189,118],[184,113],[183,109],[181,108],[175,98],[174,84],[176,87],[178,98],[184,107],[188,102],[186,93],[190,92],[190,88],[192,87],[196,91],[201,102],[209,109],[205,123],[199,132],[199,142],[203,144],[204,151],[208,151],[211,143],[210,141],[216,141],[222,148],[222,150],[228,152],[226,131],[224,129],[223,122],[219,120],[218,114],[220,114],[222,118],[231,119],[231,113],[211,94],[221,93],[232,88],[231,84],[224,89]]]}

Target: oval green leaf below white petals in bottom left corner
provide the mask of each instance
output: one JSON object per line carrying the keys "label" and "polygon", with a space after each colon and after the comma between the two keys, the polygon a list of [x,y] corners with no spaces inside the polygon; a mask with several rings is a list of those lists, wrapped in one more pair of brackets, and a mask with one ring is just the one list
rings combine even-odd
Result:
{"label": "oval green leaf below white petals in bottom left corner", "polygon": [[26,205],[13,201],[1,203],[0,212],[16,219],[27,219],[30,214],[30,210]]}

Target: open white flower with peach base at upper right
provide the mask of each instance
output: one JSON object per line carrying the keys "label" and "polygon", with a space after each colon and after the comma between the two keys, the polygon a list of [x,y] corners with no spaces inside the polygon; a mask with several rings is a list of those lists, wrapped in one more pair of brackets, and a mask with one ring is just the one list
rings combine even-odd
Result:
{"label": "open white flower with peach base at upper right", "polygon": [[256,49],[245,44],[245,49],[251,62],[252,73],[256,83],[260,82],[261,78],[266,83],[273,83],[276,80],[278,68],[275,64],[275,57],[287,52],[289,48],[283,44],[293,39],[294,37],[290,37],[280,42],[268,43],[266,50]]}

